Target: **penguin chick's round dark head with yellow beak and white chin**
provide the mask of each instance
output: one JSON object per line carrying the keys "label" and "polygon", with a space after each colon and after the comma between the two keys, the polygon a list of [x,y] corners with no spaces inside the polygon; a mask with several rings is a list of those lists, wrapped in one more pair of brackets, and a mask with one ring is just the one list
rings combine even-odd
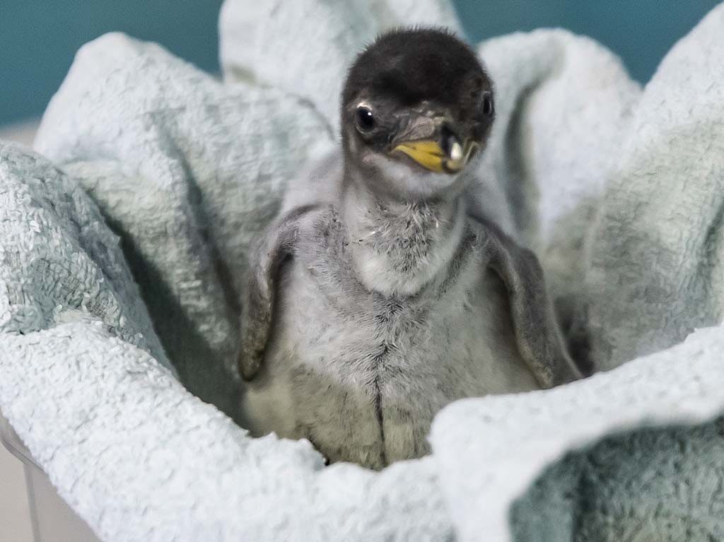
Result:
{"label": "penguin chick's round dark head with yellow beak and white chin", "polygon": [[393,30],[355,60],[342,90],[345,161],[371,188],[401,198],[459,192],[487,142],[492,81],[446,30]]}

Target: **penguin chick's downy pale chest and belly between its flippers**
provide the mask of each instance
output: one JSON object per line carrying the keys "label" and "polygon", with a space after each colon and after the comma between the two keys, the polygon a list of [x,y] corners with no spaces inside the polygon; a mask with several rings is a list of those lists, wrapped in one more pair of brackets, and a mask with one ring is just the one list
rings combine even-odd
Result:
{"label": "penguin chick's downy pale chest and belly between its flippers", "polygon": [[319,271],[333,265],[282,270],[264,373],[246,399],[256,432],[382,467],[429,452],[429,425],[447,403],[536,387],[502,284],[473,262],[445,292],[399,299]]}

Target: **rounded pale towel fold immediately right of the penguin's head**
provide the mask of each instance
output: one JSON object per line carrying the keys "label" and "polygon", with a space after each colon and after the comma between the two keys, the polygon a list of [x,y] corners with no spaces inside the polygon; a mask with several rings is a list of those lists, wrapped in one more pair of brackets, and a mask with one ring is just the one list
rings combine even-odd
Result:
{"label": "rounded pale towel fold immediately right of the penguin's head", "polygon": [[481,185],[487,192],[502,188],[510,233],[543,259],[555,294],[579,295],[584,237],[615,167],[639,85],[609,51],[562,31],[492,39],[479,53],[497,88]]}

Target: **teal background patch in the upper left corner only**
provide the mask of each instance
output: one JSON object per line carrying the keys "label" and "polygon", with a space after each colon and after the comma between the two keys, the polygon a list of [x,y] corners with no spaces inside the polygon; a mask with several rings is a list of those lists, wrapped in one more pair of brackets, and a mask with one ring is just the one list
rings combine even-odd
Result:
{"label": "teal background patch in the upper left corner only", "polygon": [[0,124],[40,117],[75,51],[112,30],[158,41],[177,56],[217,71],[221,4],[222,0],[0,0]]}

